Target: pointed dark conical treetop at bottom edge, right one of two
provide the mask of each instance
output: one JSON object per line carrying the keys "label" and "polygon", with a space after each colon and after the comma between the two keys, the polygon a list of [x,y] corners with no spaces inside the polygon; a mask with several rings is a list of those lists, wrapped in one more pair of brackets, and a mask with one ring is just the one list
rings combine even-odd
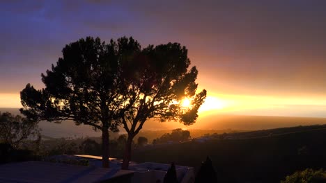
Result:
{"label": "pointed dark conical treetop at bottom edge, right one of two", "polygon": [[217,175],[209,157],[207,157],[206,161],[201,164],[195,182],[217,182]]}

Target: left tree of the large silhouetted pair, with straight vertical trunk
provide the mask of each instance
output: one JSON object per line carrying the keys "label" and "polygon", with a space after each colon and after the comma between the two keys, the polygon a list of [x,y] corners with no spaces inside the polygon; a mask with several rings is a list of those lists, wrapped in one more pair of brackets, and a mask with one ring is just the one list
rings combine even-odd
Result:
{"label": "left tree of the large silhouetted pair, with straight vertical trunk", "polygon": [[102,166],[108,168],[109,130],[118,130],[121,105],[118,66],[139,51],[134,42],[122,37],[106,44],[86,37],[66,45],[63,58],[41,75],[45,88],[27,84],[22,90],[22,114],[37,121],[73,120],[102,131]]}

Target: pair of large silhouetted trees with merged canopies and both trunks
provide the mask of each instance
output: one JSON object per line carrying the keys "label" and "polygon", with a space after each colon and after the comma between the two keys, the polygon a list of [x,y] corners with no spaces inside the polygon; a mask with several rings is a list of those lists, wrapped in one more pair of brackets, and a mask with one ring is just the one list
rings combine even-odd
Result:
{"label": "pair of large silhouetted trees with merged canopies and both trunks", "polygon": [[[63,48],[51,70],[42,73],[44,89],[27,84],[21,92],[22,114],[33,120],[91,125],[102,131],[103,166],[108,167],[109,130],[123,125],[128,137],[123,161],[127,168],[132,139],[148,119],[195,123],[206,91],[196,92],[198,71],[187,49],[178,43],[143,49],[132,37],[109,44],[86,37]],[[189,107],[180,101],[189,98]]]}

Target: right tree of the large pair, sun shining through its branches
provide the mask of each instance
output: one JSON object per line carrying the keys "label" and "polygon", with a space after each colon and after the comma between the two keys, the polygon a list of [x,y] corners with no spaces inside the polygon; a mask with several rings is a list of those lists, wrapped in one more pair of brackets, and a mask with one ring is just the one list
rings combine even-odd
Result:
{"label": "right tree of the large pair, sun shining through its branches", "polygon": [[[139,45],[135,47],[140,49]],[[178,43],[150,45],[122,64],[123,107],[120,117],[128,134],[122,168],[127,169],[132,139],[148,119],[191,125],[198,117],[206,91],[203,89],[196,94],[198,71],[196,67],[188,69],[187,49]],[[183,98],[192,101],[190,107],[183,107],[180,103]]]}

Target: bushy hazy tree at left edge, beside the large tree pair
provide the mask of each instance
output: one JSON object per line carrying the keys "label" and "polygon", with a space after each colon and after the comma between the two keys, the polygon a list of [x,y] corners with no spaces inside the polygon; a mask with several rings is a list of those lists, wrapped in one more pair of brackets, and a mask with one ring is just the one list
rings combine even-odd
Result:
{"label": "bushy hazy tree at left edge, beside the large tree pair", "polygon": [[40,138],[40,129],[36,121],[14,116],[9,112],[0,112],[0,142],[8,143],[14,148],[22,146],[27,141]]}

